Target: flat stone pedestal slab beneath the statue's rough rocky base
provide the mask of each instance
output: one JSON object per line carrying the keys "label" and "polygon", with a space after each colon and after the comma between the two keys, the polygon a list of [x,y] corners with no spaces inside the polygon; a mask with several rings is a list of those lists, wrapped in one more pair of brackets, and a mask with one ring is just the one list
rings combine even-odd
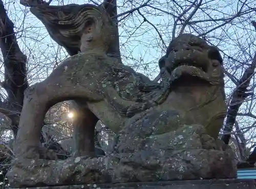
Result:
{"label": "flat stone pedestal slab beneath the statue's rough rocky base", "polygon": [[65,186],[30,187],[30,189],[80,189],[80,188],[122,188],[122,189],[256,189],[252,179],[212,179],[212,180],[184,180],[166,182],[133,182],[117,184],[84,184]]}

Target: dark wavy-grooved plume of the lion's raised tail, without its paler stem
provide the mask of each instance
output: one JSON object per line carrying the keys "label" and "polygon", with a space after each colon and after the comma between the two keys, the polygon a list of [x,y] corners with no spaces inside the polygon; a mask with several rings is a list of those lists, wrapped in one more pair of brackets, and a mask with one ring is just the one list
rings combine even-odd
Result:
{"label": "dark wavy-grooved plume of the lion's raised tail, without its paler stem", "polygon": [[[91,4],[38,5],[31,7],[30,11],[46,26],[51,38],[65,47],[71,56],[80,51],[80,36],[89,21],[99,21],[97,26],[104,27],[109,33],[113,32],[112,35],[116,30],[113,27],[114,23],[110,21],[110,16],[106,14],[102,6]],[[103,26],[102,24],[105,22],[108,24]],[[100,28],[97,31],[102,32]]]}

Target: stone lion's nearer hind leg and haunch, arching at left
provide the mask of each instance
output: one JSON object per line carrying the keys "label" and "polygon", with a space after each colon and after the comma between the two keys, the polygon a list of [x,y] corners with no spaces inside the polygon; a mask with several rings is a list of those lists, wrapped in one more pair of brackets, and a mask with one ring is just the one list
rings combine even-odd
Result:
{"label": "stone lion's nearer hind leg and haunch, arching at left", "polygon": [[[57,72],[58,73],[58,72]],[[37,83],[25,92],[24,105],[20,116],[19,130],[14,152],[27,158],[40,157],[40,130],[49,108],[61,101],[79,99],[86,102],[100,101],[101,97],[92,90],[90,83],[73,82],[68,74],[55,74]]]}

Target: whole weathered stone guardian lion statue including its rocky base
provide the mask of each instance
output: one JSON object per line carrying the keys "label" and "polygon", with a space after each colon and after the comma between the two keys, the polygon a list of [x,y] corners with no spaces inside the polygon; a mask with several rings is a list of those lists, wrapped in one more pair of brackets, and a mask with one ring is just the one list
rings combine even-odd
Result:
{"label": "whole weathered stone guardian lion statue including its rocky base", "polygon": [[[156,83],[109,56],[116,29],[104,9],[88,6],[62,18],[59,24],[73,27],[62,35],[79,38],[81,52],[26,91],[8,173],[12,187],[236,177],[234,154],[217,138],[226,104],[216,47],[180,35],[160,59]],[[117,134],[111,155],[84,155],[84,143],[74,157],[57,160],[40,147],[46,112],[64,100],[86,105]]]}

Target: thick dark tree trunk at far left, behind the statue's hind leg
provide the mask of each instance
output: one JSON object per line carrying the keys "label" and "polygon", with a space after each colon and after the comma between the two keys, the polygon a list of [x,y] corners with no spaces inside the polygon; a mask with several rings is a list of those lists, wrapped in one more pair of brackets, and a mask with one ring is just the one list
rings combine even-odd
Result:
{"label": "thick dark tree trunk at far left, behind the statue's hind leg", "polygon": [[18,46],[13,28],[13,22],[8,18],[3,1],[0,0],[0,48],[5,66],[5,80],[1,87],[8,94],[7,99],[0,104],[0,112],[11,119],[12,130],[16,136],[28,81],[27,57]]}

